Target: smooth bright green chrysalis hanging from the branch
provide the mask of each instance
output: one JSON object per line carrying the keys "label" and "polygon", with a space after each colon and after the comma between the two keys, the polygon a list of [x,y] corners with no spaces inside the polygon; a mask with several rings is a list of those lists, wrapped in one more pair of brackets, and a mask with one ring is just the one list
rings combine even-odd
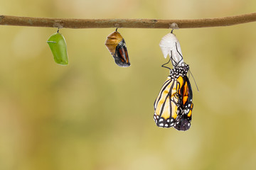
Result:
{"label": "smooth bright green chrysalis hanging from the branch", "polygon": [[58,64],[68,65],[68,52],[65,38],[61,33],[50,35],[47,41],[51,52],[53,52],[54,61]]}

